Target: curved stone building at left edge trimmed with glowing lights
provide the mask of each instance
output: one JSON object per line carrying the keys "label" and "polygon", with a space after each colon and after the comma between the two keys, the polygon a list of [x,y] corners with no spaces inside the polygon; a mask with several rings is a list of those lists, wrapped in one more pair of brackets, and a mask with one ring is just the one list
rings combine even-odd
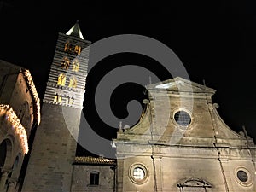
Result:
{"label": "curved stone building at left edge trimmed with glowing lights", "polygon": [[0,84],[0,191],[17,191],[28,138],[40,121],[40,101],[23,67],[1,60]]}

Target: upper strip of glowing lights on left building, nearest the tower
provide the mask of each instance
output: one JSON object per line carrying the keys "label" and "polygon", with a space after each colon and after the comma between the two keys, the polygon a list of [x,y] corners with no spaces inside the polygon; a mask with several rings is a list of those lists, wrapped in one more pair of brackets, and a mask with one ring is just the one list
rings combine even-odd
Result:
{"label": "upper strip of glowing lights on left building, nearest the tower", "polygon": [[41,114],[40,114],[40,99],[38,97],[38,92],[36,90],[35,84],[32,79],[32,75],[29,72],[29,70],[25,69],[23,73],[25,75],[26,83],[28,84],[29,90],[31,90],[32,92],[34,102],[36,102],[37,119],[38,119],[38,125],[39,125],[41,121]]}

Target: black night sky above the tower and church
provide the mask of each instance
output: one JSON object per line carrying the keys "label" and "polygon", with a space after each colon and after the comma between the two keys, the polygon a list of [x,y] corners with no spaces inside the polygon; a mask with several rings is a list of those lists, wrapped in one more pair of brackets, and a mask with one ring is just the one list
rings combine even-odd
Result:
{"label": "black night sky above the tower and church", "polygon": [[[76,20],[84,38],[92,43],[118,34],[148,36],[176,53],[192,81],[203,84],[205,79],[208,87],[217,90],[213,102],[219,104],[218,113],[231,129],[242,131],[245,125],[256,139],[255,2],[109,2],[113,1],[0,0],[0,59],[28,68],[43,98],[57,33],[66,33]],[[152,62],[151,70],[159,73],[161,80],[172,78],[157,71],[155,62],[143,55],[113,55],[103,61],[108,67],[98,67],[99,71],[89,74],[85,102],[91,103],[93,87],[117,65],[115,61]],[[132,98],[141,98],[143,90],[137,90],[139,96],[133,93]],[[101,126],[100,121],[92,124]]]}

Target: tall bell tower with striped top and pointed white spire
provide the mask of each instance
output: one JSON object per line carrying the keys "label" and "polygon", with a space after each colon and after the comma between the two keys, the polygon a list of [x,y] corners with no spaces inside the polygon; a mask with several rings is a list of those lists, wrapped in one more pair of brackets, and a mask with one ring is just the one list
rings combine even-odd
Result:
{"label": "tall bell tower with striped top and pointed white spire", "polygon": [[67,33],[58,34],[24,192],[70,191],[89,48],[90,41],[84,40],[78,21]]}

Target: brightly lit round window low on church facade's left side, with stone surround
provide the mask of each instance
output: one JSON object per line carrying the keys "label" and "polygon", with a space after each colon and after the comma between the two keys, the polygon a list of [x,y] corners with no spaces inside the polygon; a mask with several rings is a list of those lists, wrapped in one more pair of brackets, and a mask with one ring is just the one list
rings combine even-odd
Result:
{"label": "brightly lit round window low on church facade's left side, with stone surround", "polygon": [[143,184],[148,180],[148,169],[142,164],[134,164],[130,167],[129,177],[133,183]]}

